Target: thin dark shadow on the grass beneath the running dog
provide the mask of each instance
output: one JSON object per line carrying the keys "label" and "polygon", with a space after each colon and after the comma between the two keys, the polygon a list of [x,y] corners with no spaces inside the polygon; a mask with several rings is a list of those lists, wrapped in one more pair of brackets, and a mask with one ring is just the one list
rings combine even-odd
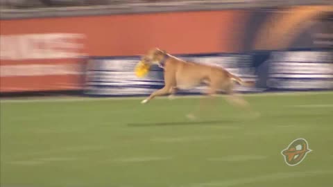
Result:
{"label": "thin dark shadow on the grass beneath the running dog", "polygon": [[238,123],[236,120],[216,120],[216,121],[170,121],[157,123],[128,123],[130,127],[147,127],[147,126],[167,126],[167,125],[222,125],[221,123]]}

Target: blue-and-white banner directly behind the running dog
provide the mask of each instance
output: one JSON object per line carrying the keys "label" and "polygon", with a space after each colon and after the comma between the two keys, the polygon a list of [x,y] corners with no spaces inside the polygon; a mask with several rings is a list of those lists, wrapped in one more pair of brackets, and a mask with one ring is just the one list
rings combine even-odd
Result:
{"label": "blue-and-white banner directly behind the running dog", "polygon": [[[223,66],[244,80],[255,80],[250,55],[207,54],[182,55],[184,60]],[[87,64],[85,94],[99,96],[139,96],[151,94],[164,86],[163,69],[157,65],[144,78],[137,78],[134,69],[139,57],[92,57]],[[180,90],[178,94],[200,94],[204,86]],[[257,91],[251,87],[237,87],[239,91]]]}

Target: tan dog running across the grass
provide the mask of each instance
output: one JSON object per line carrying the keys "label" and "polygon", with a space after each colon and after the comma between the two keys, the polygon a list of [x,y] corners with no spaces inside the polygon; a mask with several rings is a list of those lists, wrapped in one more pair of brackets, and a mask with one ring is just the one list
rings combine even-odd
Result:
{"label": "tan dog running across the grass", "polygon": [[[168,54],[159,48],[154,48],[142,57],[146,64],[158,64],[164,69],[164,87],[154,91],[142,103],[148,103],[155,96],[163,96],[176,93],[177,89],[191,89],[199,84],[205,83],[208,86],[208,96],[214,96],[219,91],[225,91],[228,101],[241,107],[248,107],[248,103],[234,95],[233,87],[235,82],[241,85],[252,86],[254,82],[245,82],[236,75],[228,72],[220,66],[187,62]],[[192,117],[194,115],[191,115]]]}

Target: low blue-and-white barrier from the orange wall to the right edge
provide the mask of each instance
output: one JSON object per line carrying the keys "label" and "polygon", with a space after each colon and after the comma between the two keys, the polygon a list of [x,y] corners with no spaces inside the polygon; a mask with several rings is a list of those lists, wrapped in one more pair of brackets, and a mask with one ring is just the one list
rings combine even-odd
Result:
{"label": "low blue-and-white barrier from the orange wall to the right edge", "polygon": [[[314,91],[333,89],[333,52],[258,51],[178,55],[184,60],[216,64],[255,87],[237,86],[239,92]],[[90,57],[87,63],[85,94],[88,96],[144,96],[164,86],[163,70],[152,66],[145,78],[134,73],[139,57]],[[178,94],[200,94],[204,86],[180,90]]]}

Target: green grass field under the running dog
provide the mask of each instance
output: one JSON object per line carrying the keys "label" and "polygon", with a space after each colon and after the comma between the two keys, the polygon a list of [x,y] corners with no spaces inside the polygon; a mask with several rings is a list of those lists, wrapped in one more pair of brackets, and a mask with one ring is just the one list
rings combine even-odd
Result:
{"label": "green grass field under the running dog", "polygon": [[[1,101],[1,187],[332,186],[333,92],[254,95],[260,118],[198,98]],[[280,153],[297,138],[298,166]]]}

